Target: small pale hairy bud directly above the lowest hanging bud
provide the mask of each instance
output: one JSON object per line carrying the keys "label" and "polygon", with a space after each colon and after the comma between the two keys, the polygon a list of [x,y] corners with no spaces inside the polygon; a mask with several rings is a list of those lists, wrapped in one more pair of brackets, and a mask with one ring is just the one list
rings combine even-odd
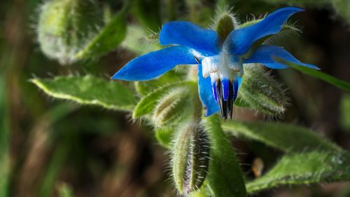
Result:
{"label": "small pale hairy bud directly above the lowest hanging bud", "polygon": [[169,90],[158,102],[153,111],[156,127],[172,126],[181,123],[193,113],[193,96],[186,87]]}

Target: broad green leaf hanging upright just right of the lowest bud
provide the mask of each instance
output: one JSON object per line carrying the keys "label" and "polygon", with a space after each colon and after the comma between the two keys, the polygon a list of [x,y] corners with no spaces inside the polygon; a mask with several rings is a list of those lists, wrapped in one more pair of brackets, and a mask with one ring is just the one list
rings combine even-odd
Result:
{"label": "broad green leaf hanging upright just right of the lowest bud", "polygon": [[244,179],[230,141],[221,129],[220,118],[204,119],[210,139],[210,158],[207,182],[215,197],[246,196]]}

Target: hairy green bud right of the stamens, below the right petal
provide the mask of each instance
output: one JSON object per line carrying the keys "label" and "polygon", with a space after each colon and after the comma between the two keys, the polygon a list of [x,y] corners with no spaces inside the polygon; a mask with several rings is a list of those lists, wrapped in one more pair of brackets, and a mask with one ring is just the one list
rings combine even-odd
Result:
{"label": "hairy green bud right of the stamens, below the right petal", "polygon": [[261,65],[245,65],[239,97],[248,107],[269,116],[279,116],[286,110],[288,97],[280,83]]}

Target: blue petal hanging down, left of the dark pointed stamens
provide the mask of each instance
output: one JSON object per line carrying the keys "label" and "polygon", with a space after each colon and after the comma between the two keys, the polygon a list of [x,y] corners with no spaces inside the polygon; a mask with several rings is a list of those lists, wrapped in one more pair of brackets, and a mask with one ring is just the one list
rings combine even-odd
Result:
{"label": "blue petal hanging down, left of the dark pointed stamens", "polygon": [[200,100],[205,109],[204,116],[210,116],[219,111],[218,103],[214,99],[211,91],[211,79],[210,77],[204,79],[202,75],[202,65],[198,66],[198,92],[200,93]]}

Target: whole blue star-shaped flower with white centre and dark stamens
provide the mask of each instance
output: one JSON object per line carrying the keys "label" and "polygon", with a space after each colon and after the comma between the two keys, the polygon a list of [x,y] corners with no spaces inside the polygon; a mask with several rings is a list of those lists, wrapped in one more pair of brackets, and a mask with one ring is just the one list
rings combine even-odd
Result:
{"label": "whole blue star-shaped flower with white centre and dark stamens", "polygon": [[300,66],[318,69],[312,64],[300,62],[278,46],[260,45],[246,57],[255,41],[278,33],[290,15],[299,11],[302,9],[281,8],[254,25],[236,28],[224,41],[216,31],[203,29],[191,22],[167,22],[160,31],[159,41],[161,45],[169,47],[134,58],[112,79],[145,81],[168,72],[178,64],[197,64],[198,90],[206,109],[205,116],[220,110],[223,118],[232,118],[232,105],[244,76],[243,64],[259,63],[272,69],[287,68],[286,64],[274,58],[279,57]]}

